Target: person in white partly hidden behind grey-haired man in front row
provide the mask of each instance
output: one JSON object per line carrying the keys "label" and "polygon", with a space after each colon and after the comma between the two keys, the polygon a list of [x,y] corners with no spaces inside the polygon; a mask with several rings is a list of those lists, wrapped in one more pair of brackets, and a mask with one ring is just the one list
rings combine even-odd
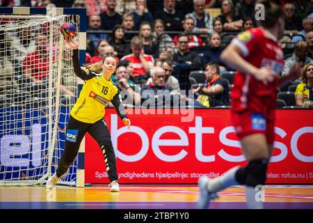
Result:
{"label": "person in white partly hidden behind grey-haired man in front row", "polygon": [[[172,71],[174,70],[174,65],[172,61],[159,59],[155,63],[155,66],[163,68],[163,70],[165,71],[164,83],[168,84],[172,88],[172,91],[178,93],[180,91],[179,82],[178,79],[172,76]],[[152,77],[147,80],[147,84],[150,83],[152,83]]]}

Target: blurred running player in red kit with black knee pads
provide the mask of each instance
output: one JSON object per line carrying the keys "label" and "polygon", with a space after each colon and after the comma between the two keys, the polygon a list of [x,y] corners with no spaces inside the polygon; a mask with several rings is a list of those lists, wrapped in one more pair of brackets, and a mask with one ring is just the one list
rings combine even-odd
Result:
{"label": "blurred running player in red kit with black knee pads", "polygon": [[264,5],[265,15],[260,27],[239,33],[220,56],[227,66],[238,70],[232,89],[232,122],[248,164],[218,178],[200,178],[199,208],[208,208],[210,200],[218,197],[216,193],[231,185],[246,185],[248,208],[263,208],[259,185],[265,184],[273,151],[277,89],[300,77],[300,66],[296,64],[289,75],[279,77],[284,66],[278,43],[284,33],[282,10],[275,0],[258,3]]}

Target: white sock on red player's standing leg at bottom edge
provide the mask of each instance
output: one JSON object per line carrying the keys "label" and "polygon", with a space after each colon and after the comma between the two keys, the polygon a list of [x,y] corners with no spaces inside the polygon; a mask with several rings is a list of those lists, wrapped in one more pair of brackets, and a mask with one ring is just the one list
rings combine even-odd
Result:
{"label": "white sock on red player's standing leg at bottom edge", "polygon": [[249,209],[263,209],[263,196],[262,187],[246,186],[246,201]]}

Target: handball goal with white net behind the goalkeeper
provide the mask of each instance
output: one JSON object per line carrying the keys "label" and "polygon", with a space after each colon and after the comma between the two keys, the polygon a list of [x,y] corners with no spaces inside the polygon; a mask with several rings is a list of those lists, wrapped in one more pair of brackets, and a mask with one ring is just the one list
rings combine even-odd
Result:
{"label": "handball goal with white net behind the goalkeeper", "polygon": [[[0,7],[0,186],[38,185],[54,174],[81,82],[59,29],[77,28],[86,63],[86,8]],[[84,186],[84,144],[61,184]]]}

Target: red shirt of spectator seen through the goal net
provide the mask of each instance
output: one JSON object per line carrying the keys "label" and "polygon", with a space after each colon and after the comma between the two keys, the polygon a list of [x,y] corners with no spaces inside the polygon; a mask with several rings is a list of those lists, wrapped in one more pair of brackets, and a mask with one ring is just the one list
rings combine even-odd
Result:
{"label": "red shirt of spectator seen through the goal net", "polygon": [[[53,57],[54,61],[55,57]],[[36,50],[35,52],[27,54],[23,62],[23,70],[30,69],[31,77],[36,79],[45,79],[49,75],[49,55],[40,55]]]}

